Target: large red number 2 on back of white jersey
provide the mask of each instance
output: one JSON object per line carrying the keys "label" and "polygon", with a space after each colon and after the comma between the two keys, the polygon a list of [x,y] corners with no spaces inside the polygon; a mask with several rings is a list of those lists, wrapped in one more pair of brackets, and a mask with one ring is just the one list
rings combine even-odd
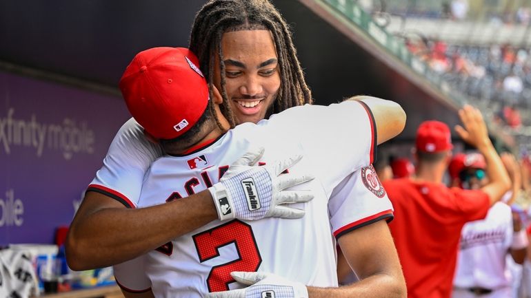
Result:
{"label": "large red number 2 on back of white jersey", "polygon": [[218,248],[231,243],[238,251],[239,259],[212,267],[207,279],[209,292],[229,290],[228,285],[234,282],[232,271],[256,271],[262,262],[252,228],[245,222],[232,220],[194,235],[193,239],[201,262],[219,257]]}

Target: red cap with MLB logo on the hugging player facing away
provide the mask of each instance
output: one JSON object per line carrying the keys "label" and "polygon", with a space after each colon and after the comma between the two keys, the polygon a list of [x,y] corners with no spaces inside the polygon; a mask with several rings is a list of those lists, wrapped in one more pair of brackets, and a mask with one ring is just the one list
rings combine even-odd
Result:
{"label": "red cap with MLB logo on the hugging player facing away", "polygon": [[158,139],[181,136],[208,105],[208,85],[199,59],[183,47],[153,47],[134,56],[120,79],[126,105]]}

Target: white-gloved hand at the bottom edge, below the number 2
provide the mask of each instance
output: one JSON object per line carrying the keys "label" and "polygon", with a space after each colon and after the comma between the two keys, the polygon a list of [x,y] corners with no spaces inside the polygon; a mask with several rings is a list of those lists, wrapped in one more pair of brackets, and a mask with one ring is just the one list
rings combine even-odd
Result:
{"label": "white-gloved hand at the bottom edge, below the number 2", "polygon": [[212,292],[206,298],[308,298],[308,289],[297,281],[263,272],[232,272],[232,278],[247,288]]}

